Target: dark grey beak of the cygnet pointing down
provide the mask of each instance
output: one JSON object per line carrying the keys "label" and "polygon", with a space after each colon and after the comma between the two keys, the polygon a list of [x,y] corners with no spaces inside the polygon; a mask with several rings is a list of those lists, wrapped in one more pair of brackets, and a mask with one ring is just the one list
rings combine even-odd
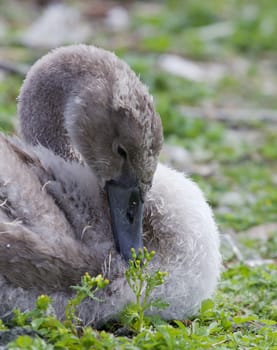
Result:
{"label": "dark grey beak of the cygnet pointing down", "polygon": [[108,181],[106,191],[111,211],[112,230],[116,249],[126,261],[131,259],[131,248],[138,251],[142,244],[143,201],[136,185]]}

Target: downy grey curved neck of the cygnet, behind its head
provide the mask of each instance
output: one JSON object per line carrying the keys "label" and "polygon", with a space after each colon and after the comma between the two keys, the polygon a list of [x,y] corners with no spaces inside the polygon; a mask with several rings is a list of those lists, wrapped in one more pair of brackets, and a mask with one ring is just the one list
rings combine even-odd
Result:
{"label": "downy grey curved neck of the cygnet, behind its head", "polygon": [[28,73],[19,96],[22,137],[66,159],[75,157],[65,127],[67,106],[99,80],[107,81],[105,67],[99,69],[97,54],[94,57],[90,53],[88,59],[87,50],[80,47],[76,53],[74,49],[59,49],[40,59]]}

